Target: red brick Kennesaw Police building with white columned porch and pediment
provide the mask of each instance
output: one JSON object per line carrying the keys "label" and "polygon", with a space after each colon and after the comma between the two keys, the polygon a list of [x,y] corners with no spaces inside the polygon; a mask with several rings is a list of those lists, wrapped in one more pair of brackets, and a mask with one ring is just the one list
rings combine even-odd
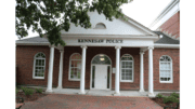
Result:
{"label": "red brick Kennesaw Police building with white columned porch and pediment", "polygon": [[179,40],[138,22],[89,13],[92,28],[70,25],[65,46],[44,38],[16,41],[16,82],[52,88],[148,92],[180,90]]}

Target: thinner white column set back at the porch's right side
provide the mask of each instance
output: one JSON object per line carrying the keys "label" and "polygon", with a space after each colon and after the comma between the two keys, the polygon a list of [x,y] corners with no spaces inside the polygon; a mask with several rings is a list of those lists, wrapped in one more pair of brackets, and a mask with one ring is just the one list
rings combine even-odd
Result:
{"label": "thinner white column set back at the porch's right side", "polygon": [[144,59],[143,59],[144,52],[140,52],[140,92],[144,92]]}

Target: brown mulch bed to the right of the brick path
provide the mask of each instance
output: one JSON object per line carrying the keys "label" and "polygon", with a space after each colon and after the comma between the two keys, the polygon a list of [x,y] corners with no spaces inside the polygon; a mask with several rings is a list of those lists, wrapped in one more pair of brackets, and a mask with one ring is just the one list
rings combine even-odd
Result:
{"label": "brown mulch bed to the right of the brick path", "polygon": [[[164,95],[164,96],[170,96],[171,94],[168,94],[168,93],[162,94],[162,93],[161,93],[161,95]],[[177,105],[178,105],[178,103],[167,103],[167,104],[164,104],[164,98],[157,98],[157,97],[155,97],[155,98],[151,98],[151,99],[154,100],[156,104],[158,104],[158,105],[161,106],[161,107],[165,107],[165,106],[177,107]],[[173,108],[167,108],[167,109],[173,109]],[[180,109],[180,105],[179,105],[179,108],[178,108],[178,109]]]}

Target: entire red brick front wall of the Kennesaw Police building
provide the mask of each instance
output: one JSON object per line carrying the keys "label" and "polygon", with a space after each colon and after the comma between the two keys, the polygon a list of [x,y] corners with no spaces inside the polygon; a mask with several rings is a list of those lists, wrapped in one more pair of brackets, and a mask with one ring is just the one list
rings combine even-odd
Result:
{"label": "entire red brick front wall of the Kennesaw Police building", "polygon": [[[38,52],[46,54],[46,72],[44,79],[32,79],[34,56]],[[120,82],[120,90],[139,90],[140,88],[140,49],[139,47],[122,47],[120,56],[130,54],[134,58],[134,82]],[[64,68],[63,68],[63,87],[79,88],[79,81],[68,80],[69,57],[73,53],[81,54],[80,46],[65,46],[64,51]],[[112,59],[112,67],[115,67],[116,50],[115,47],[92,47],[87,49],[86,60],[86,88],[90,88],[91,59],[98,54],[106,54]],[[173,60],[173,83],[159,83],[159,57],[169,55]],[[49,69],[49,46],[16,46],[16,66],[17,79],[21,84],[48,85],[48,69]],[[58,82],[58,64],[60,51],[55,49],[54,68],[53,68],[53,85],[57,86]],[[154,90],[179,90],[179,50],[176,49],[155,49],[154,50]],[[112,73],[112,88],[115,90],[115,73]],[[148,53],[144,54],[144,88],[148,88]]]}

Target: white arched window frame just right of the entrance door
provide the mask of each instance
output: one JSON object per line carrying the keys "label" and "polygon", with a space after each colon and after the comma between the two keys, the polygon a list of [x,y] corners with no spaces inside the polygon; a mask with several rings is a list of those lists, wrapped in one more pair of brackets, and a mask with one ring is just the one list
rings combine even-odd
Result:
{"label": "white arched window frame just right of the entrance door", "polygon": [[[123,55],[130,55],[130,54],[123,54]],[[132,60],[121,60],[121,58],[123,57],[123,55],[120,57],[120,82],[134,82],[134,58],[132,55],[130,55],[132,57]],[[132,80],[122,80],[121,79],[121,73],[122,73],[122,62],[132,62]]]}

